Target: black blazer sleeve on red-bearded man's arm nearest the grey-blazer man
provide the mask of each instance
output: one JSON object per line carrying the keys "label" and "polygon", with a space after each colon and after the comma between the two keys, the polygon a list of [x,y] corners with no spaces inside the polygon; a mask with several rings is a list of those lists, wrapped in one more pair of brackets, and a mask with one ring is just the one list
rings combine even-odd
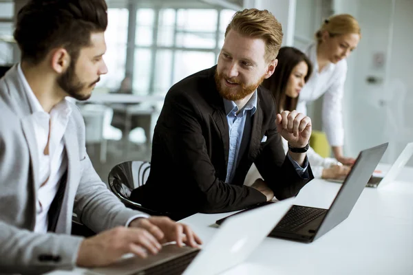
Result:
{"label": "black blazer sleeve on red-bearded man's arm nearest the grey-blazer man", "polygon": [[[193,182],[191,190],[202,197],[200,212],[226,212],[240,210],[266,197],[249,186],[226,184],[215,175],[215,168],[207,153],[202,133],[202,115],[189,96],[174,92],[165,99],[164,115],[158,135],[167,144],[167,154],[174,163],[179,163],[185,182]],[[158,122],[159,123],[159,122]],[[222,156],[223,157],[223,156]],[[182,186],[181,188],[186,188]],[[187,192],[187,190],[182,190]]]}

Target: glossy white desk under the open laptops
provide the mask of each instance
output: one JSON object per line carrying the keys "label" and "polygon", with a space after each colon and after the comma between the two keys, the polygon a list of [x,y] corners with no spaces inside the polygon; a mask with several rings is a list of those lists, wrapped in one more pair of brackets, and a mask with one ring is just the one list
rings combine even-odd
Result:
{"label": "glossy white desk under the open laptops", "polygon": [[[380,166],[379,168],[388,168]],[[365,188],[348,219],[313,243],[266,238],[248,258],[246,270],[232,274],[413,274],[413,168],[405,168],[389,188]],[[329,208],[341,184],[320,179],[305,186],[295,204]],[[391,187],[391,188],[390,188]],[[207,243],[224,214],[195,214],[191,225]],[[81,274],[52,272],[52,275]]]}

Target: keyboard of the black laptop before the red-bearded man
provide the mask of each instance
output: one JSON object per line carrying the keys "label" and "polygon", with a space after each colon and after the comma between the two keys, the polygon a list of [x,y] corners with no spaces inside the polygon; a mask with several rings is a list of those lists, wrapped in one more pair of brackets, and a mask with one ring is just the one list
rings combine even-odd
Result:
{"label": "keyboard of the black laptop before the red-bearded man", "polygon": [[277,230],[295,231],[310,221],[314,221],[322,214],[326,214],[326,209],[309,208],[306,206],[293,206],[287,214],[275,226]]}

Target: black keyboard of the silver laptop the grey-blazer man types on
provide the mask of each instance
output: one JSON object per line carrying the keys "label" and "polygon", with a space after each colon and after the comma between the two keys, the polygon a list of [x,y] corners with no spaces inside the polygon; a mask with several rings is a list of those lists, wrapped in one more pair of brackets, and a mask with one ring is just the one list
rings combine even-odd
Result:
{"label": "black keyboard of the silver laptop the grey-blazer man types on", "polygon": [[188,254],[182,255],[178,258],[161,263],[160,265],[149,267],[147,270],[140,271],[136,275],[180,275],[199,252],[200,250],[194,250],[193,252],[189,252]]}

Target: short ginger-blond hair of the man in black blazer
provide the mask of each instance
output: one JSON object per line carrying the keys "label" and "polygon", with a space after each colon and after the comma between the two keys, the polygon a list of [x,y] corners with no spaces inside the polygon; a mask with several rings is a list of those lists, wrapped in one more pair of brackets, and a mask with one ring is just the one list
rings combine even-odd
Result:
{"label": "short ginger-blond hair of the man in black blazer", "polygon": [[230,30],[265,42],[266,61],[273,61],[278,54],[282,44],[282,25],[268,10],[257,10],[256,8],[240,10],[235,12],[231,22],[226,27],[226,34]]}

